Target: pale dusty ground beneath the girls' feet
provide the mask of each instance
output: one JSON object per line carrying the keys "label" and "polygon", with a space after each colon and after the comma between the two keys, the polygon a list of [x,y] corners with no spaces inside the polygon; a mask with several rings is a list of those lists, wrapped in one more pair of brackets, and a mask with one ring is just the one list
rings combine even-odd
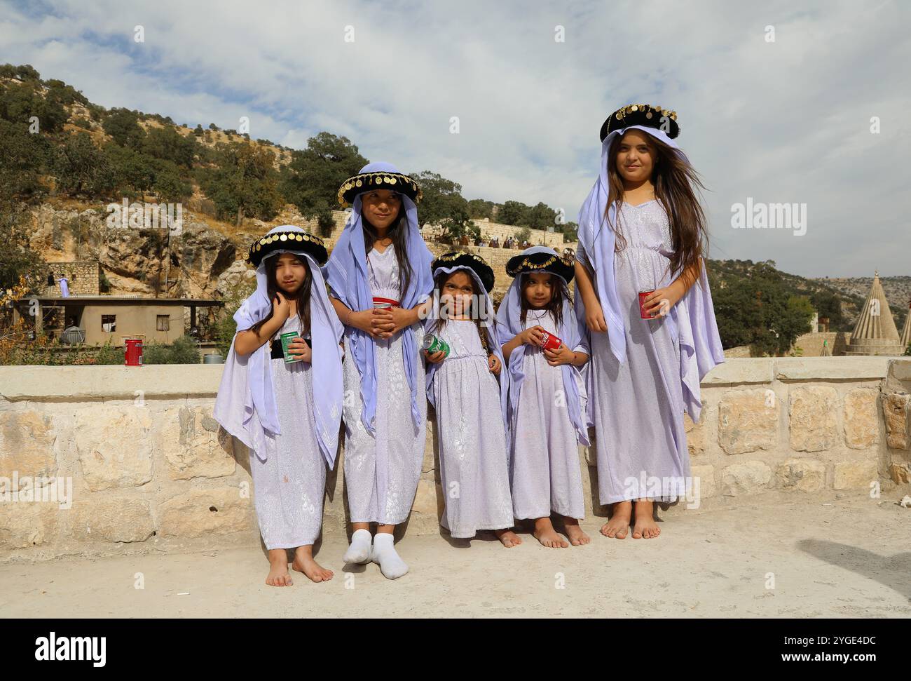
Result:
{"label": "pale dusty ground beneath the girls' feet", "polygon": [[[411,572],[343,569],[343,537],[317,560],[335,573],[266,586],[260,546],[0,565],[5,617],[908,617],[911,510],[896,500],[673,515],[656,540],[545,549],[528,534],[504,549],[406,536]],[[137,573],[141,573],[138,576]],[[136,588],[138,580],[144,588]]]}

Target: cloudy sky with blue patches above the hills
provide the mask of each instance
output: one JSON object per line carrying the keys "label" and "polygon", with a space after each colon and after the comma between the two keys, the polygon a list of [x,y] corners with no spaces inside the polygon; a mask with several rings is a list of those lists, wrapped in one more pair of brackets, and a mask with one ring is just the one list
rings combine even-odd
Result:
{"label": "cloudy sky with blue patches above the hills", "polygon": [[[105,107],[191,127],[236,129],[247,116],[251,137],[293,148],[329,130],[370,160],[460,182],[466,198],[544,201],[569,220],[609,113],[673,108],[709,190],[711,257],[805,276],[911,275],[904,0],[0,10],[0,62],[31,64]],[[805,204],[805,229],[732,227],[732,206],[748,199]]]}

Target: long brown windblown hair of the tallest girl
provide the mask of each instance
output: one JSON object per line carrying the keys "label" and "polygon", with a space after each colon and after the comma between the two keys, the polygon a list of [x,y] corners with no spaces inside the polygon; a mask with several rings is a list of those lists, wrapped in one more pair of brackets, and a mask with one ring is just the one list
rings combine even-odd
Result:
{"label": "long brown windblown hair of the tallest girl", "polygon": [[[620,201],[623,200],[623,177],[617,171],[617,154],[623,135],[610,145],[608,153],[608,211],[611,204],[617,204],[619,215]],[[699,173],[682,160],[676,151],[660,139],[649,133],[643,135],[646,143],[655,153],[651,182],[655,186],[655,198],[664,206],[670,222],[670,241],[673,255],[670,256],[670,274],[678,275],[691,265],[699,263],[702,253],[709,252],[709,232],[706,229],[705,212],[695,188],[704,190],[705,186]],[[609,221],[608,221],[609,223]],[[617,233],[614,250],[619,252],[626,248],[626,239],[614,225],[610,228]]]}

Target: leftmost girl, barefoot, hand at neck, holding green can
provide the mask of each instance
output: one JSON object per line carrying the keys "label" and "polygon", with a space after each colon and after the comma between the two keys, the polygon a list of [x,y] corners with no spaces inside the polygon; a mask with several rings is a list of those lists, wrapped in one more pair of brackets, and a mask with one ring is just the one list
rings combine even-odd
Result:
{"label": "leftmost girl, barefoot, hand at neck, holding green can", "polygon": [[[266,583],[292,584],[288,549],[295,570],[324,582],[333,572],[313,560],[312,549],[343,400],[342,325],[320,271],[326,249],[318,237],[283,225],[253,242],[249,260],[257,289],[234,315],[238,331],[213,416],[250,450],[253,500],[269,552]],[[286,363],[280,337],[290,332],[297,337],[289,354],[300,361]]]}

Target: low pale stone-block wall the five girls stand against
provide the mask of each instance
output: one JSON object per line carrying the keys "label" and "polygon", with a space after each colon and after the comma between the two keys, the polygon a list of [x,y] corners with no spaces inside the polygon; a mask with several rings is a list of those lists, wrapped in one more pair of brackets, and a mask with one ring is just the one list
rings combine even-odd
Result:
{"label": "low pale stone-block wall the five girls stand against", "polygon": [[[0,367],[0,494],[24,495],[0,500],[0,561],[259,542],[249,453],[211,417],[221,370]],[[686,420],[699,508],[908,483],[911,359],[730,359],[702,388],[701,422]],[[430,417],[413,512],[400,528],[409,533],[439,531]],[[579,457],[587,513],[603,516],[594,451]],[[325,532],[348,529],[342,459],[327,479]],[[60,478],[72,494],[51,496],[58,488],[46,484],[37,488],[44,500],[29,500],[26,478]]]}

